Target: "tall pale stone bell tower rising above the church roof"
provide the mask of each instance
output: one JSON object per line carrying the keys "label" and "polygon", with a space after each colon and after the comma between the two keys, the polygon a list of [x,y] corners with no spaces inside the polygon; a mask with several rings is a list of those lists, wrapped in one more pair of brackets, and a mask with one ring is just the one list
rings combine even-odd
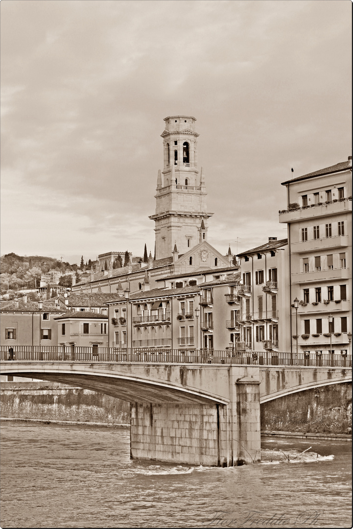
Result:
{"label": "tall pale stone bell tower rising above the church roof", "polygon": [[[197,163],[196,119],[164,118],[163,171],[158,171],[155,222],[156,259],[171,257],[174,245],[183,254],[200,242],[200,225],[207,231],[205,176]],[[163,176],[162,176],[163,175]]]}

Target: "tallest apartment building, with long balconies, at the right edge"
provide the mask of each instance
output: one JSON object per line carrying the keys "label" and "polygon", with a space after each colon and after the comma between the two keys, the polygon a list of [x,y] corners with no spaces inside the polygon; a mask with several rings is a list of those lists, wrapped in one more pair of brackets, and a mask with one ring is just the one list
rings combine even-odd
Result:
{"label": "tallest apartment building, with long balconies, at the right edge", "polygon": [[282,183],[287,188],[280,222],[287,224],[289,241],[292,350],[297,340],[300,351],[318,355],[350,349],[351,168],[349,157]]}

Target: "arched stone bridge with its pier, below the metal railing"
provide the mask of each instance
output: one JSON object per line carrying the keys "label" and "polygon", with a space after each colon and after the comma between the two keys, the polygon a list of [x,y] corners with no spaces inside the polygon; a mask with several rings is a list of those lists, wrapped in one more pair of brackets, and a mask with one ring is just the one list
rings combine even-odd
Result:
{"label": "arched stone bridge with its pier, below the metal railing", "polygon": [[260,402],[351,380],[335,367],[1,361],[3,375],[101,391],[131,403],[131,457],[233,466],[260,460]]}

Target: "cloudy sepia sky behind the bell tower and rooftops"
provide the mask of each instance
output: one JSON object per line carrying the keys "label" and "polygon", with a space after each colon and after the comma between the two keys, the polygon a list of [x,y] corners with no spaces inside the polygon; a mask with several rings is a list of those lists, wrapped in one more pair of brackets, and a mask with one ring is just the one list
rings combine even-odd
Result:
{"label": "cloudy sepia sky behind the bell tower and rooftops", "polygon": [[222,253],[286,236],[291,167],[351,154],[350,0],[0,7],[2,254],[153,253],[169,115],[197,118]]}

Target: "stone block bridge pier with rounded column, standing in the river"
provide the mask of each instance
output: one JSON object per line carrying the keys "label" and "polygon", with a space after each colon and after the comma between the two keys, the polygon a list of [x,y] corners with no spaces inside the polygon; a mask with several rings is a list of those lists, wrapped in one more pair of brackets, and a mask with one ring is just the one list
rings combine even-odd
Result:
{"label": "stone block bridge pier with rounded column, standing in the river", "polygon": [[131,458],[218,467],[259,461],[259,377],[239,379],[236,367],[229,375],[229,404],[132,403]]}

